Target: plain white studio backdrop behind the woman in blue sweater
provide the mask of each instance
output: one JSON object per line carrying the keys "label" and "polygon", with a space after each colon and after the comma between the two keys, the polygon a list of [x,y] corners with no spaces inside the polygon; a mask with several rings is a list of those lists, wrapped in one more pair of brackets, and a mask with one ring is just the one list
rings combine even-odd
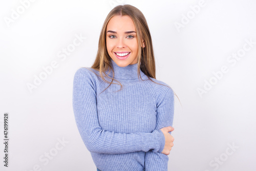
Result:
{"label": "plain white studio backdrop behind the woman in blue sweater", "polygon": [[[37,0],[24,12],[21,2],[0,3],[1,170],[96,170],[74,120],[73,76],[93,64],[104,19],[117,4],[131,4],[145,15],[157,79],[169,84],[182,104],[176,98],[168,170],[256,169],[256,1]],[[200,2],[203,7],[193,12]],[[17,9],[19,16],[8,24],[6,18]],[[177,23],[183,27],[177,29]],[[65,59],[59,58],[75,35],[86,39]],[[246,39],[254,44],[245,45]],[[242,52],[236,63],[229,58]],[[30,92],[27,84],[52,61],[58,67]],[[213,72],[223,66],[228,72],[217,79]],[[205,81],[213,85],[200,96]],[[5,112],[8,168],[3,166]],[[58,139],[66,143],[61,146]]]}

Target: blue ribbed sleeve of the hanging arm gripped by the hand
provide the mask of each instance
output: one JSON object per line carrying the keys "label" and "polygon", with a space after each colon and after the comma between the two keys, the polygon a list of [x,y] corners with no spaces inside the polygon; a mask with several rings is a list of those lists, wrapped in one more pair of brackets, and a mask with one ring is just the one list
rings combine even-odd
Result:
{"label": "blue ribbed sleeve of the hanging arm gripped by the hand", "polygon": [[[166,126],[173,126],[174,118],[174,93],[171,89],[163,89],[159,97],[157,106],[156,129],[159,130]],[[171,134],[172,132],[169,132]],[[162,151],[161,151],[162,152]],[[167,171],[168,156],[161,152],[154,153],[152,150],[146,152],[145,170],[146,171]]]}

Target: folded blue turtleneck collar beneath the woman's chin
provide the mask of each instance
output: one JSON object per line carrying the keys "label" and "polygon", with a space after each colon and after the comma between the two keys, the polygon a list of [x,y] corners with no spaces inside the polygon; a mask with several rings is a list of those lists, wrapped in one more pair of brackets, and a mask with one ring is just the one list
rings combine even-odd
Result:
{"label": "folded blue turtleneck collar beneath the woman's chin", "polygon": [[[110,60],[115,73],[115,76],[114,76],[115,79],[122,79],[122,81],[126,80],[125,82],[127,81],[134,82],[134,81],[141,80],[140,78],[138,78],[138,71],[137,71],[138,63],[128,65],[126,67],[119,67],[112,58]],[[141,78],[143,80],[147,79],[147,76],[141,70],[139,71],[140,71]],[[110,72],[109,75],[113,76],[112,71]]]}

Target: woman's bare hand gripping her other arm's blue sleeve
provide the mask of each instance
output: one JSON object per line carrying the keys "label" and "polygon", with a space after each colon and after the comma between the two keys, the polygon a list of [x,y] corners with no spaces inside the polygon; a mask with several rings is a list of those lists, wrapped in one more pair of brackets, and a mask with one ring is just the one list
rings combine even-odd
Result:
{"label": "woman's bare hand gripping her other arm's blue sleeve", "polygon": [[168,132],[174,131],[174,127],[172,126],[167,126],[163,127],[160,129],[163,132],[164,138],[165,138],[165,144],[163,151],[161,152],[162,154],[169,155],[170,150],[172,149],[172,146],[174,146],[174,137],[170,135]]}

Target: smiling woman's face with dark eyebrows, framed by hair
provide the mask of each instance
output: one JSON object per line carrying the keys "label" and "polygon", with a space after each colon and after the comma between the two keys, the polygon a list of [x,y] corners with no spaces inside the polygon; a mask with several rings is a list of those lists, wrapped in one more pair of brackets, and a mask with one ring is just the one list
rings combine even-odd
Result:
{"label": "smiling woman's face with dark eyebrows, framed by hair", "polygon": [[115,15],[110,19],[106,26],[106,49],[119,67],[138,62],[137,34],[130,16]]}

